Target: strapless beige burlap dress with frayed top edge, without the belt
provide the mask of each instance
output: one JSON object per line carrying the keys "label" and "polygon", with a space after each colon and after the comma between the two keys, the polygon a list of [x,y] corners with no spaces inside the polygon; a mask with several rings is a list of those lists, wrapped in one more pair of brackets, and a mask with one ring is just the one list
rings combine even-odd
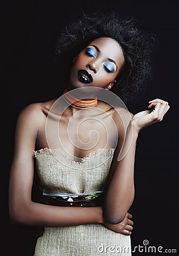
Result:
{"label": "strapless beige burlap dress with frayed top edge, without the belt", "polygon": [[[61,195],[70,202],[75,196],[103,191],[114,148],[93,151],[81,162],[70,159],[60,149],[42,148],[34,154],[43,195]],[[44,228],[34,256],[73,255],[131,255],[131,238],[101,224]]]}

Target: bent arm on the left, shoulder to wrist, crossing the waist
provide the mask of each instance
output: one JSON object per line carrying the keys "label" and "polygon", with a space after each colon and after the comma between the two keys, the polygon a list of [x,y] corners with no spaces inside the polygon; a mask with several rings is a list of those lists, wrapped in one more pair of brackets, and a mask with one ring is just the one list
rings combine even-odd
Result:
{"label": "bent arm on the left, shoulder to wrist, crossing the waist", "polygon": [[9,213],[13,222],[35,226],[102,223],[102,208],[55,207],[31,200],[38,129],[44,118],[39,105],[27,106],[18,117],[9,180]]}

